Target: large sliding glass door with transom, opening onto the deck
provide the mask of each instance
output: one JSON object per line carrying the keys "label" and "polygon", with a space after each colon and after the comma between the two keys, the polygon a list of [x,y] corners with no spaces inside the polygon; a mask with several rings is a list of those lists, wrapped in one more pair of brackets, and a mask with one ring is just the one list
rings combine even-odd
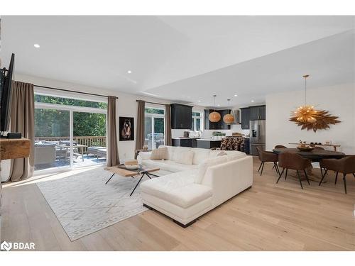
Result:
{"label": "large sliding glass door with transom, opening onto the deck", "polygon": [[35,94],[35,170],[106,162],[107,103]]}

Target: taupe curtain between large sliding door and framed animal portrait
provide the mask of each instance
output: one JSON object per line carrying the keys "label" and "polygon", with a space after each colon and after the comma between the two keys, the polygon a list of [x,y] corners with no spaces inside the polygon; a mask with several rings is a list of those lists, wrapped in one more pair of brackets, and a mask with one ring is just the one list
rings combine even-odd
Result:
{"label": "taupe curtain between large sliding door and framed animal portrait", "polygon": [[107,166],[119,165],[117,145],[116,97],[109,96],[107,105]]}

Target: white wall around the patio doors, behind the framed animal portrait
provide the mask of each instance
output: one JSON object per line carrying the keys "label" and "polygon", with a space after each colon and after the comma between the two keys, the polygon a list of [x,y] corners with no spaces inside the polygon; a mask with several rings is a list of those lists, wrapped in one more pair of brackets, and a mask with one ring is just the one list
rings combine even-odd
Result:
{"label": "white wall around the patio doors, behind the framed animal portrait", "polygon": [[[169,104],[170,101],[165,101],[161,99],[153,99],[149,98],[146,96],[141,96],[141,95],[136,95],[136,94],[124,94],[121,92],[116,92],[114,90],[108,90],[108,89],[99,89],[95,87],[88,87],[88,86],[83,86],[80,84],[73,84],[70,82],[60,82],[58,80],[53,80],[53,79],[43,79],[40,77],[32,77],[24,74],[16,74],[15,79],[21,82],[30,82],[36,85],[42,85],[42,86],[47,86],[47,87],[58,87],[61,89],[70,89],[73,91],[77,92],[89,92],[93,94],[103,94],[103,95],[111,95],[111,96],[117,96],[119,99],[117,100],[117,127],[119,126],[119,116],[129,116],[134,118],[134,128],[135,128],[135,138],[136,138],[136,123],[137,123],[137,111],[138,111],[138,103],[136,102],[137,99],[142,99],[145,101],[153,101],[157,102],[160,104]],[[38,89],[35,87],[35,92],[45,92],[45,89]],[[70,92],[59,92],[55,90],[47,90],[50,94],[55,94],[55,95],[67,95],[67,96],[73,96],[75,98],[82,98],[84,99],[92,99],[92,100],[98,100],[98,99],[103,99],[107,100],[107,98],[102,98],[102,97],[97,97],[97,96],[86,96],[84,94],[71,94]],[[119,133],[119,132],[118,132]],[[117,136],[117,138],[119,138]],[[119,157],[120,160],[128,160],[132,159],[134,157],[134,150],[136,148],[136,141],[119,141]],[[6,160],[7,161],[7,160]],[[4,165],[3,169],[7,169],[7,164],[9,162],[3,161],[1,165]],[[9,161],[9,160],[8,160]],[[5,171],[1,171],[1,175],[3,176],[3,179],[7,179],[9,176],[9,173]]]}

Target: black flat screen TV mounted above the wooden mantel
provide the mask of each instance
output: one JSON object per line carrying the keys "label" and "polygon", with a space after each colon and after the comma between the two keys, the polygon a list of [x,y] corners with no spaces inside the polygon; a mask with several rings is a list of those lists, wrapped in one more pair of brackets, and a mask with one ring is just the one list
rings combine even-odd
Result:
{"label": "black flat screen TV mounted above the wooden mantel", "polygon": [[9,131],[10,111],[11,111],[11,86],[13,76],[13,63],[15,55],[11,55],[9,69],[3,68],[1,70],[1,88],[0,88],[0,133],[3,135],[4,131]]}

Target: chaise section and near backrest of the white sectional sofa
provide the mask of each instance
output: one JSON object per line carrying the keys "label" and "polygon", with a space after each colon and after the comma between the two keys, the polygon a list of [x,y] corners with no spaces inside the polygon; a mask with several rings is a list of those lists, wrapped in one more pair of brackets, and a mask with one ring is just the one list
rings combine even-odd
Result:
{"label": "chaise section and near backrest of the white sectional sofa", "polygon": [[[182,227],[190,226],[197,218],[253,184],[252,157],[245,154],[222,157],[217,165],[205,165],[211,160],[204,160],[194,169],[143,182],[143,205],[173,218]],[[197,176],[203,167],[206,169],[198,182]]]}

